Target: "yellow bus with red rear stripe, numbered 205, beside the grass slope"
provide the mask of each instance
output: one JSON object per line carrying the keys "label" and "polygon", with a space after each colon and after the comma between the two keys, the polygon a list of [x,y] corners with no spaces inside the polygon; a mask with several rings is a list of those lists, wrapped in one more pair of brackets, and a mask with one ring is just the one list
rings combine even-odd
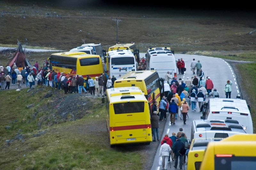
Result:
{"label": "yellow bus with red rear stripe, numbered 205, beside the grass slope", "polygon": [[148,100],[140,88],[107,89],[106,118],[110,146],[152,142]]}

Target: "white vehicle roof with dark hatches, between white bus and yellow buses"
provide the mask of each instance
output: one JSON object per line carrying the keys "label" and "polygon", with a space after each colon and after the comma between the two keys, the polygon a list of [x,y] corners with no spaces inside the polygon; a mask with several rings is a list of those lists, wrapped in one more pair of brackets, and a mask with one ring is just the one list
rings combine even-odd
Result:
{"label": "white vehicle roof with dark hatches, between white bus and yellow buses", "polygon": [[226,138],[235,134],[246,134],[243,126],[236,120],[194,120],[191,140],[203,138]]}

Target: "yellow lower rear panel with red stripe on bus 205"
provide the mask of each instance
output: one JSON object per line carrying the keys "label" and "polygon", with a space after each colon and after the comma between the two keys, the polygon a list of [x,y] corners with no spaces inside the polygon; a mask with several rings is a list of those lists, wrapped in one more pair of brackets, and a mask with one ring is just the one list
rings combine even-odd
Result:
{"label": "yellow lower rear panel with red stripe on bus 205", "polygon": [[115,123],[116,140],[127,141],[139,140],[140,137],[147,137],[148,125],[145,121],[117,122]]}

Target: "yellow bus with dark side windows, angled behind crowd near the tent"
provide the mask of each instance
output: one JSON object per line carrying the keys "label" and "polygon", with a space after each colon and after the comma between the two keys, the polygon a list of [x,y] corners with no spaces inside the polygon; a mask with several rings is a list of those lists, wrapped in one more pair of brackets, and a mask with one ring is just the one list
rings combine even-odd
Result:
{"label": "yellow bus with dark side windows, angled behind crowd near the tent", "polygon": [[52,70],[75,76],[89,75],[91,78],[103,73],[102,62],[99,55],[86,54],[84,52],[63,52],[52,54],[50,64]]}

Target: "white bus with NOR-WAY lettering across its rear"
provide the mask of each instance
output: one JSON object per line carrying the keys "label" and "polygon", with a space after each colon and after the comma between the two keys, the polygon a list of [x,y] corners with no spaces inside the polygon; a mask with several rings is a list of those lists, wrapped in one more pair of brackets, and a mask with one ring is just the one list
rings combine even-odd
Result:
{"label": "white bus with NOR-WAY lettering across its rear", "polygon": [[137,71],[135,56],[130,50],[113,50],[108,52],[108,73],[118,78],[129,71]]}

